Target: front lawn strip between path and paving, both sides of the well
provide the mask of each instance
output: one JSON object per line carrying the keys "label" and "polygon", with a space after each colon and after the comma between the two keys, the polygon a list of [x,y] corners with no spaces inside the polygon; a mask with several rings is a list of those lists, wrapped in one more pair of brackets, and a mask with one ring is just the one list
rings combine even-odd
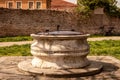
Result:
{"label": "front lawn strip between path and paving, both sides of the well", "polygon": [[[120,59],[120,40],[89,41],[89,55],[109,55]],[[0,47],[0,56],[30,56],[30,44]]]}

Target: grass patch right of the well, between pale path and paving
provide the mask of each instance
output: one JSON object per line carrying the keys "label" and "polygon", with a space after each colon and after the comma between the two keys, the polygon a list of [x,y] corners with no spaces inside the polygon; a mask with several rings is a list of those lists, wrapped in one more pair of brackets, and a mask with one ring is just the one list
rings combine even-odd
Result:
{"label": "grass patch right of the well, between pale path and paving", "polygon": [[120,40],[89,42],[91,55],[110,55],[120,59]]}

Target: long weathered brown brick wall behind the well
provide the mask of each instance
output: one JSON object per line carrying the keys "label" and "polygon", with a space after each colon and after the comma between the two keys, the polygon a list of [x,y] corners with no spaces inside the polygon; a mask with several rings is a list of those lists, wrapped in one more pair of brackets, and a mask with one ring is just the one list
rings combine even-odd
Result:
{"label": "long weathered brown brick wall behind the well", "polygon": [[83,19],[80,15],[50,10],[9,10],[0,8],[0,36],[30,35],[31,33],[75,29],[89,34],[105,34],[110,27],[120,34],[120,19],[105,15],[92,15]]}

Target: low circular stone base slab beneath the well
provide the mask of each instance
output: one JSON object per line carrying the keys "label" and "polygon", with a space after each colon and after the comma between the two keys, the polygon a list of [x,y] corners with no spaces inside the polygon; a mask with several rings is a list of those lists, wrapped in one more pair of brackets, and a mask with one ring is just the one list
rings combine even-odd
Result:
{"label": "low circular stone base slab beneath the well", "polygon": [[77,69],[40,69],[33,67],[32,60],[22,61],[18,64],[19,69],[33,74],[40,74],[49,77],[83,77],[95,75],[102,71],[103,65],[97,61],[90,61],[90,64],[84,68]]}

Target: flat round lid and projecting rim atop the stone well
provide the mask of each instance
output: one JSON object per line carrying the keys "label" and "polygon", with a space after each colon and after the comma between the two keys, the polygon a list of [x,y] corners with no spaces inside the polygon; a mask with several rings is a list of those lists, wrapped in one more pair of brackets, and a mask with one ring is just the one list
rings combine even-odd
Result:
{"label": "flat round lid and projecting rim atop the stone well", "polygon": [[86,39],[89,34],[83,34],[76,31],[53,31],[53,32],[41,32],[37,34],[31,34],[34,39]]}

